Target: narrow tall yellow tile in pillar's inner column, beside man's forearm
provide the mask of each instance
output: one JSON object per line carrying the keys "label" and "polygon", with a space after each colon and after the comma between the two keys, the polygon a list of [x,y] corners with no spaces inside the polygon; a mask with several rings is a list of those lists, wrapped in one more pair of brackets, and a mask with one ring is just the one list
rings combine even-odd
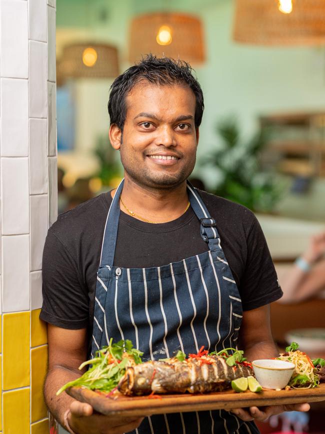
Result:
{"label": "narrow tall yellow tile in pillar's inner column, beside man's forearm", "polygon": [[33,348],[31,359],[31,421],[47,416],[47,407],[43,398],[43,384],[47,370],[47,345]]}

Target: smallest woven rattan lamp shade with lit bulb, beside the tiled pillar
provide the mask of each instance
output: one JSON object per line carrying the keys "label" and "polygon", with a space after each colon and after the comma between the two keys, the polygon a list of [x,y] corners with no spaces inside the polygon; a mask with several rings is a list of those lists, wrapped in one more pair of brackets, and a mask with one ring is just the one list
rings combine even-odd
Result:
{"label": "smallest woven rattan lamp shade with lit bulb, beside the tiled pillar", "polygon": [[61,81],[69,77],[112,78],[118,74],[117,49],[106,44],[66,46],[57,63],[57,77]]}

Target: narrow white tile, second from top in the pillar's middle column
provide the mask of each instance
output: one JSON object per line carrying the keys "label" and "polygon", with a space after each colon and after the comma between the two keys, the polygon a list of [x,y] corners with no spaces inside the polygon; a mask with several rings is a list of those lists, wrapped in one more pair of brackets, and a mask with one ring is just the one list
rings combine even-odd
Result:
{"label": "narrow white tile, second from top in the pillar's middle column", "polygon": [[29,118],[47,117],[47,44],[29,41]]}

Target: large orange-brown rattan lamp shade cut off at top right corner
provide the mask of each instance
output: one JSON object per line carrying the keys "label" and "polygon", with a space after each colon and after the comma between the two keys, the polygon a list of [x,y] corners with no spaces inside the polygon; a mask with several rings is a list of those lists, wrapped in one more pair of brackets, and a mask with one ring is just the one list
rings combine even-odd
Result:
{"label": "large orange-brown rattan lamp shade cut off at top right corner", "polygon": [[278,0],[236,0],[234,41],[268,46],[325,44],[325,0],[293,0],[283,14]]}

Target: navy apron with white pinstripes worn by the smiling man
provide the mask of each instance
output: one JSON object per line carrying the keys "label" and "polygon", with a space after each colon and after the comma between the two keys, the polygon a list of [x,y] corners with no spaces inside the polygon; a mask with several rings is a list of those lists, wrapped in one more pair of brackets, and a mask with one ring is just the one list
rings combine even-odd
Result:
{"label": "navy apron with white pinstripes worn by the smiling man", "polygon": [[[181,350],[197,352],[236,346],[242,318],[239,292],[220,245],[215,221],[195,189],[187,184],[190,205],[201,222],[209,250],[151,268],[113,266],[119,197],[110,205],[97,272],[91,353],[114,341],[130,339],[143,359],[171,357]],[[190,236],[190,234],[189,234]],[[126,246],[127,248],[127,246]],[[170,246],[172,248],[172,246]],[[224,410],[161,414],[146,417],[138,434],[256,433]]]}

